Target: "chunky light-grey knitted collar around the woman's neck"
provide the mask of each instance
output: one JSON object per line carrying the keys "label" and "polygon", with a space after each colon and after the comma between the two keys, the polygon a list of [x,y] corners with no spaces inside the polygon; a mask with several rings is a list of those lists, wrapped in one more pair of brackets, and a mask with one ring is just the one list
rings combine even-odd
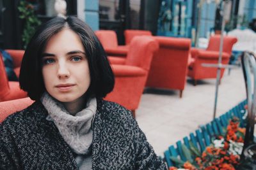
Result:
{"label": "chunky light-grey knitted collar around the woman's neck", "polygon": [[89,99],[86,108],[72,116],[64,106],[53,99],[47,92],[41,97],[41,102],[52,120],[58,127],[61,136],[77,154],[90,153],[92,145],[92,122],[97,110],[96,98]]}

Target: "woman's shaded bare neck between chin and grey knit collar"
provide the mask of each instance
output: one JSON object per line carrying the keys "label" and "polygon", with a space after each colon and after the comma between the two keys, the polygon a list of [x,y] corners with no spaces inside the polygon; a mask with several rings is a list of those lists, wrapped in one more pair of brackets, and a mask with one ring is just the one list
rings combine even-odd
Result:
{"label": "woman's shaded bare neck between chin and grey knit collar", "polygon": [[68,113],[74,116],[77,112],[83,110],[86,107],[86,97],[81,96],[80,98],[76,99],[76,101],[64,102],[62,104]]}

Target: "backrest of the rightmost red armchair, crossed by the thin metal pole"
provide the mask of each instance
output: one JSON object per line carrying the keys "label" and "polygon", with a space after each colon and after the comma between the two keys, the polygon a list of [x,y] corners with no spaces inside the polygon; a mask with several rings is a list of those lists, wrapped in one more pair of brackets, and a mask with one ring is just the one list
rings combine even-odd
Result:
{"label": "backrest of the rightmost red armchair, crossed by the thin metal pole", "polygon": [[[237,38],[233,36],[223,37],[223,52],[231,55],[232,46],[237,42]],[[220,35],[211,36],[207,51],[219,51],[220,50]]]}

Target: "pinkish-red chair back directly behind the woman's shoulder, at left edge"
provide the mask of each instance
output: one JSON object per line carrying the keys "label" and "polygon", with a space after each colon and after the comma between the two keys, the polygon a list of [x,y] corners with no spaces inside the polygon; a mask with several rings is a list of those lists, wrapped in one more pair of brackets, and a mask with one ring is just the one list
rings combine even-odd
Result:
{"label": "pinkish-red chair back directly behind the woman's shoulder, at left edge", "polygon": [[12,115],[12,113],[16,111],[20,111],[24,108],[27,108],[33,102],[34,101],[29,99],[29,97],[23,99],[15,99],[12,101],[0,102],[0,124],[6,117]]}

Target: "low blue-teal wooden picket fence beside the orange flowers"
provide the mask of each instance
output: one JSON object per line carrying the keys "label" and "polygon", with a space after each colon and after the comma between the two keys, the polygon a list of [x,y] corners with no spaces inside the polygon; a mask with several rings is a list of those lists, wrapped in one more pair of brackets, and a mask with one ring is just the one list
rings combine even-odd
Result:
{"label": "low blue-teal wooden picket fence beside the orange flowers", "polygon": [[[200,129],[197,129],[195,133],[190,133],[189,137],[183,138],[183,143],[188,148],[191,148],[191,144],[195,146],[201,153],[204,152],[205,147],[211,144],[211,138],[214,136],[224,135],[225,129],[228,125],[228,121],[232,117],[237,117],[241,120],[241,126],[244,126],[243,116],[245,113],[244,106],[246,105],[247,101],[244,100],[243,102],[239,103],[237,106],[232,108],[231,110],[227,111],[218,118],[215,118],[209,124],[206,124]],[[172,162],[170,157],[179,157],[179,159],[186,161],[186,157],[182,152],[182,141],[177,141],[176,146],[172,145],[164,152],[164,160],[166,161],[168,167],[175,166],[175,163]]]}

